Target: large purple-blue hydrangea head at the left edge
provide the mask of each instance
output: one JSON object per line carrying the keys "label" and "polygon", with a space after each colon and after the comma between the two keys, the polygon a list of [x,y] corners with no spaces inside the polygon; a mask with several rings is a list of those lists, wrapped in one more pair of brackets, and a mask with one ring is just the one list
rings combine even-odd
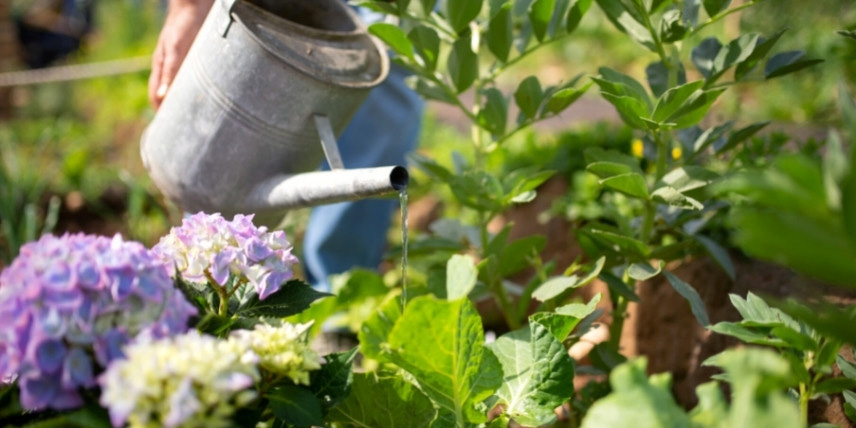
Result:
{"label": "large purple-blue hydrangea head at the left edge", "polygon": [[0,273],[0,379],[18,379],[27,409],[78,407],[129,340],[183,333],[194,314],[142,244],[44,236]]}

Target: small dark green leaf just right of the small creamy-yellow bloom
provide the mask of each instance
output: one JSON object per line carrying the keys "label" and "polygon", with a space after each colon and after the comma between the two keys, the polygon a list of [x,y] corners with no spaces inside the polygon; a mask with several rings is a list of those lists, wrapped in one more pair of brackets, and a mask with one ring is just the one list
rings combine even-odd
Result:
{"label": "small dark green leaf just right of the small creamy-yellow bloom", "polygon": [[357,350],[325,355],[321,369],[309,373],[309,390],[321,403],[322,413],[327,413],[350,394]]}

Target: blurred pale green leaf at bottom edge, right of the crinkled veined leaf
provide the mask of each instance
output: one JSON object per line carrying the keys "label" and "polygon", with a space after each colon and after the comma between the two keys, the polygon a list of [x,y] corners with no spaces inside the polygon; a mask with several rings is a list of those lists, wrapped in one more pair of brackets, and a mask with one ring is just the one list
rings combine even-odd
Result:
{"label": "blurred pale green leaf at bottom edge, right of the crinkled veined leaf", "polygon": [[609,376],[612,392],[597,400],[582,421],[582,428],[691,427],[689,416],[675,403],[668,373],[651,376],[645,357],[621,364]]}

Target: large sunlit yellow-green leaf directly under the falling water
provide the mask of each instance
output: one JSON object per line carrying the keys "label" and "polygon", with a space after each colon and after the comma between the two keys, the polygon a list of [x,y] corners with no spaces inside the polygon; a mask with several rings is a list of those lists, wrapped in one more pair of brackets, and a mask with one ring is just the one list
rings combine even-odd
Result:
{"label": "large sunlit yellow-green leaf directly under the falling water", "polygon": [[502,384],[502,368],[484,348],[481,318],[469,299],[413,299],[389,343],[388,360],[413,375],[443,420],[458,427],[487,420],[479,406]]}

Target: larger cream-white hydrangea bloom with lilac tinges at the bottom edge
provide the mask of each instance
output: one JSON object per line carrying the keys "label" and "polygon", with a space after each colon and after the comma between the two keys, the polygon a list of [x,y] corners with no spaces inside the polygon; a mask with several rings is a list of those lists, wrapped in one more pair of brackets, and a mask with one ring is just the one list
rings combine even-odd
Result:
{"label": "larger cream-white hydrangea bloom with lilac tinges at the bottom edge", "polygon": [[246,344],[196,331],[124,349],[99,379],[114,426],[229,426],[256,398],[259,357]]}

